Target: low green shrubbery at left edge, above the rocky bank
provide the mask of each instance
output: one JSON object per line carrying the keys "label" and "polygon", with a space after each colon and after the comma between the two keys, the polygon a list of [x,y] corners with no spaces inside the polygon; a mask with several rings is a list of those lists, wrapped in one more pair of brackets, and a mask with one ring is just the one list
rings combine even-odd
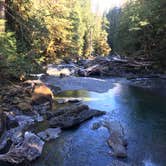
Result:
{"label": "low green shrubbery at left edge, above the rocky bank", "polygon": [[18,54],[15,35],[11,32],[0,36],[0,75],[20,78],[41,71],[40,66],[27,55]]}

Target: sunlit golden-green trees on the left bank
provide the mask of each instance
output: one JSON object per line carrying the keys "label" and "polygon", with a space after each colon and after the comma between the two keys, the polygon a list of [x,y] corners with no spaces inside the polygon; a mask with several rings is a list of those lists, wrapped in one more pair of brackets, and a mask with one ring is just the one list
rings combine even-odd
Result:
{"label": "sunlit golden-green trees on the left bank", "polygon": [[[109,54],[102,17],[92,13],[90,0],[6,0],[0,8],[0,28],[5,29],[0,41],[6,40],[1,57],[7,64],[12,59],[22,65],[26,59],[32,72],[32,64]],[[9,54],[11,41],[14,53]]]}

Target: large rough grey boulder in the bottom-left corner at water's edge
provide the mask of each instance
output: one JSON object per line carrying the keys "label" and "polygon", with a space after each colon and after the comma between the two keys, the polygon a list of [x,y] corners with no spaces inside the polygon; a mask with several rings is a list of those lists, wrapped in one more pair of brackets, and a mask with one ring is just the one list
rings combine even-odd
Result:
{"label": "large rough grey boulder in the bottom-left corner at water's edge", "polygon": [[24,161],[33,161],[42,153],[44,142],[35,134],[25,132],[23,140],[12,144],[6,154],[0,155],[0,160],[12,164],[19,164]]}

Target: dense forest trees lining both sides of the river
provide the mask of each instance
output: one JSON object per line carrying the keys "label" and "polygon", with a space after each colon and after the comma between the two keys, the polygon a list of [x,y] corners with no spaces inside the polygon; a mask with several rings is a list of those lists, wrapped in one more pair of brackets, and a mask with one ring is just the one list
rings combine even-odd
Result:
{"label": "dense forest trees lining both sides of the river", "polygon": [[0,0],[0,73],[25,75],[59,59],[108,55],[110,48],[164,65],[165,5],[126,0],[102,17],[90,0]]}

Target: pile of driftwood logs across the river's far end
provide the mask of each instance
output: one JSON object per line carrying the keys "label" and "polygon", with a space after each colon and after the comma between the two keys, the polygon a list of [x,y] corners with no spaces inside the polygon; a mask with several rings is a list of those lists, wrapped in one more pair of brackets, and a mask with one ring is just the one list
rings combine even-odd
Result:
{"label": "pile of driftwood logs across the river's far end", "polygon": [[153,61],[131,58],[97,57],[85,61],[78,71],[79,76],[132,76],[152,72]]}

